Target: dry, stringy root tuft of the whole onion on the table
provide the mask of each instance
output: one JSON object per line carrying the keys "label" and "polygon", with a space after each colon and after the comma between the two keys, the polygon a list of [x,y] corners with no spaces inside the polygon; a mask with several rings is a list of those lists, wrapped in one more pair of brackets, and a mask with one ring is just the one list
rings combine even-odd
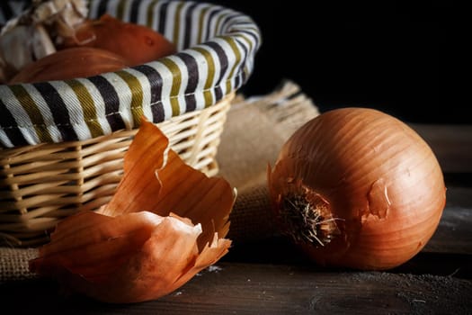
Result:
{"label": "dry, stringy root tuft of the whole onion on the table", "polygon": [[282,197],[280,217],[286,233],[296,242],[324,247],[340,234],[336,220],[341,219],[333,217],[330,203],[307,189]]}

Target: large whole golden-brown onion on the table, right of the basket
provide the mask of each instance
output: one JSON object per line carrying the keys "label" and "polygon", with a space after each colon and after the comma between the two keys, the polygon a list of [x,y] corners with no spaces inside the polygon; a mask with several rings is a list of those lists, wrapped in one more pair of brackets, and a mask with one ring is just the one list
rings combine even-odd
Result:
{"label": "large whole golden-brown onion on the table, right of the basket", "polygon": [[317,264],[386,270],[426,245],[446,202],[432,148],[405,122],[368,108],[324,112],[268,167],[282,232]]}

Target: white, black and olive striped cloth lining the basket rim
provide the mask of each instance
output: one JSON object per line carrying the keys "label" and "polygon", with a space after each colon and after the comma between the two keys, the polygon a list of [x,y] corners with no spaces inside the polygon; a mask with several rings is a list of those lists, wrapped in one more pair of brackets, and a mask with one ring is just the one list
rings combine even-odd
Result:
{"label": "white, black and olive striped cloth lining the basket rim", "polygon": [[[18,1],[2,2],[0,23],[21,10]],[[104,13],[152,27],[179,52],[101,76],[0,85],[1,146],[92,139],[135,129],[143,115],[157,123],[211,106],[245,84],[261,43],[249,16],[215,4],[89,2],[90,17]]]}

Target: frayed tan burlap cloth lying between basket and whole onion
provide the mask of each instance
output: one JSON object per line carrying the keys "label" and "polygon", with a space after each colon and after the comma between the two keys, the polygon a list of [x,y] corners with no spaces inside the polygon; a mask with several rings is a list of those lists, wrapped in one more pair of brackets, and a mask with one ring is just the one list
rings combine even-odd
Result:
{"label": "frayed tan burlap cloth lying between basket and whole onion", "polygon": [[[219,175],[237,189],[227,238],[247,242],[278,234],[266,187],[267,166],[273,165],[289,136],[318,113],[311,99],[291,81],[271,94],[236,96],[217,157]],[[34,278],[28,261],[36,255],[36,248],[0,247],[0,283]]]}

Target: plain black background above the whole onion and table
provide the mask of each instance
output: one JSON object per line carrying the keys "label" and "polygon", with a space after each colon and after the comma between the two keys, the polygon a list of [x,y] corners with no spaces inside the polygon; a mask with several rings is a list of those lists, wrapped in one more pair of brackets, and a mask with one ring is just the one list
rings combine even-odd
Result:
{"label": "plain black background above the whole onion and table", "polygon": [[246,95],[290,79],[321,112],[362,106],[411,122],[472,123],[465,84],[470,18],[461,4],[207,2],[249,15],[261,29]]}

